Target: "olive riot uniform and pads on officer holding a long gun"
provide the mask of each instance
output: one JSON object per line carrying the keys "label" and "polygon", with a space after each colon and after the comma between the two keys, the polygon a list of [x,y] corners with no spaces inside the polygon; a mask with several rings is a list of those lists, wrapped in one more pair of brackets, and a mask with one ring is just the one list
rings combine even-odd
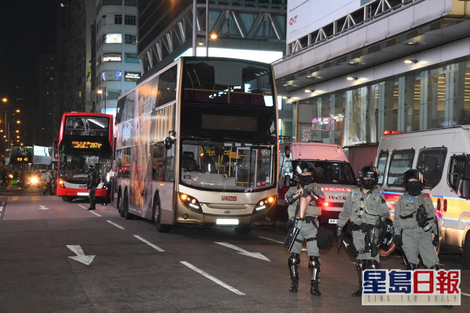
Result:
{"label": "olive riot uniform and pads on officer holding a long gun", "polygon": [[[297,167],[296,171],[297,174],[305,172],[313,172],[315,168],[313,164],[309,162],[302,161],[300,162]],[[301,176],[299,176],[301,177]],[[307,176],[308,180],[311,181],[311,176]],[[301,179],[305,179],[305,177],[301,177]],[[301,183],[302,184],[302,183]],[[287,191],[285,198],[289,198],[293,196],[297,190],[299,190],[298,186],[290,187]],[[313,191],[317,196],[320,198],[325,198],[325,194],[322,191],[322,188],[317,183],[306,183],[303,187],[303,195],[301,197],[307,198],[308,190]],[[313,295],[321,295],[321,292],[318,288],[318,283],[320,282],[320,259],[318,253],[318,246],[317,246],[317,233],[318,233],[318,220],[317,217],[322,214],[322,208],[316,206],[315,202],[307,203],[305,208],[305,215],[304,221],[300,226],[299,234],[297,235],[296,242],[292,246],[291,253],[287,260],[287,265],[290,271],[290,279],[292,282],[292,286],[290,287],[289,291],[297,292],[299,286],[299,264],[300,264],[300,254],[302,252],[302,243],[306,242],[307,246],[307,254],[309,257],[308,268],[310,268],[310,293]],[[297,207],[300,206],[300,199],[295,200],[293,203],[289,204],[287,208],[287,213],[289,216],[289,220],[296,217],[297,219],[300,218],[300,210],[297,210]]]}

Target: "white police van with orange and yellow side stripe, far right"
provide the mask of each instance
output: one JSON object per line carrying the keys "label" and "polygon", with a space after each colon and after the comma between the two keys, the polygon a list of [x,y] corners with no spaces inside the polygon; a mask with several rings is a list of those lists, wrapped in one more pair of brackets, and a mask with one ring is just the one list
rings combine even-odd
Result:
{"label": "white police van with orange and yellow side stripe, far right", "polygon": [[434,203],[439,219],[440,246],[463,254],[470,268],[470,125],[426,131],[384,134],[375,165],[378,189],[393,212],[404,192],[402,174],[423,173],[423,192]]}

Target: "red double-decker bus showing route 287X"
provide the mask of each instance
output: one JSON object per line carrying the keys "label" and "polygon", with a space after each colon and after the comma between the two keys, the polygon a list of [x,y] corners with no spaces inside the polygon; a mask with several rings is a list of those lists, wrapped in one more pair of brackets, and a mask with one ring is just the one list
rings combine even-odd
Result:
{"label": "red double-decker bus showing route 287X", "polygon": [[[57,196],[64,201],[88,198],[89,166],[98,178],[111,170],[113,115],[89,112],[64,113],[60,124],[57,161]],[[105,197],[98,188],[96,197]]]}

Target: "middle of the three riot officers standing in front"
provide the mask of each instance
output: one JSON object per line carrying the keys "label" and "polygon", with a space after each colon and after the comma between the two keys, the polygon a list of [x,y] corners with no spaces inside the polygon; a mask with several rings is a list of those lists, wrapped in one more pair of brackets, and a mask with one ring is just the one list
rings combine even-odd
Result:
{"label": "middle of the three riot officers standing in front", "polygon": [[383,195],[374,187],[378,172],[374,166],[364,166],[359,171],[361,186],[354,188],[344,202],[343,211],[339,214],[336,236],[342,238],[342,229],[346,222],[352,230],[352,243],[357,250],[356,268],[359,276],[359,289],[352,296],[362,295],[362,271],[367,268],[380,268],[376,247],[376,225],[381,218],[389,218],[390,212]]}

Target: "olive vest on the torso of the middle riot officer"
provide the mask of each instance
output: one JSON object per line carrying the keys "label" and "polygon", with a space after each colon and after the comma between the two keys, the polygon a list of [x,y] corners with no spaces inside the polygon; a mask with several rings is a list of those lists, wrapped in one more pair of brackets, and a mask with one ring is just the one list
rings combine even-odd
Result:
{"label": "olive vest on the torso of the middle riot officer", "polygon": [[360,188],[353,189],[350,221],[354,224],[377,224],[379,219],[377,207],[381,202],[382,195],[376,189],[365,195],[361,194]]}

